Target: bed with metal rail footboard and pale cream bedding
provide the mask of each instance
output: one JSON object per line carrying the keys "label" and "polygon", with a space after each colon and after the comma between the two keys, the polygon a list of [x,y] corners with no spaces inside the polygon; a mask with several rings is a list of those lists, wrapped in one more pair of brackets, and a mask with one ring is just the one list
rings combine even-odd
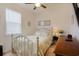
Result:
{"label": "bed with metal rail footboard and pale cream bedding", "polygon": [[13,52],[22,56],[44,56],[52,42],[50,32],[36,32],[33,35],[15,35],[12,41]]}

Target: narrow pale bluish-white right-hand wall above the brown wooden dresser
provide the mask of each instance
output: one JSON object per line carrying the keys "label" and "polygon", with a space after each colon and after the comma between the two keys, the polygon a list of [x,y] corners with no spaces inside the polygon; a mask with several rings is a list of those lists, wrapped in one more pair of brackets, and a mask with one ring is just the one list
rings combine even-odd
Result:
{"label": "narrow pale bluish-white right-hand wall above the brown wooden dresser", "polygon": [[71,12],[71,19],[72,19],[72,24],[71,24],[71,27],[70,27],[70,33],[73,35],[73,37],[75,37],[78,42],[79,42],[79,25],[78,25],[78,22],[77,22],[77,18],[76,18],[76,14],[74,12],[74,8],[71,8],[72,9],[72,12]]}

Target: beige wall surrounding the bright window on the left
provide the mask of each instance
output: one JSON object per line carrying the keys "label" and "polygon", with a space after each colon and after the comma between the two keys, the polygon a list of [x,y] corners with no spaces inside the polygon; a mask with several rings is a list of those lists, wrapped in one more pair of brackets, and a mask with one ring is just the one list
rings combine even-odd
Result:
{"label": "beige wall surrounding the bright window on the left", "polygon": [[[19,4],[0,4],[0,44],[3,45],[3,51],[8,52],[11,50],[11,37],[6,35],[5,32],[5,8],[15,10],[22,14],[22,33],[25,35],[32,34],[36,31],[36,19],[33,12]],[[31,22],[31,26],[28,26],[28,22]]]}

